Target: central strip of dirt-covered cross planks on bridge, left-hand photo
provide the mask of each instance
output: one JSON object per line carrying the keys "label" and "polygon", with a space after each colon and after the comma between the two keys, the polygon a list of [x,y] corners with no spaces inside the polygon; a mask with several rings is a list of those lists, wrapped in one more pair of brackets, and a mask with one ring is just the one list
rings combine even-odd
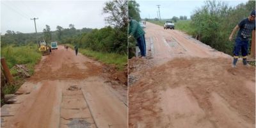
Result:
{"label": "central strip of dirt-covered cross planks on bridge, left-hand photo", "polygon": [[81,86],[66,86],[62,91],[60,128],[65,127],[97,127]]}

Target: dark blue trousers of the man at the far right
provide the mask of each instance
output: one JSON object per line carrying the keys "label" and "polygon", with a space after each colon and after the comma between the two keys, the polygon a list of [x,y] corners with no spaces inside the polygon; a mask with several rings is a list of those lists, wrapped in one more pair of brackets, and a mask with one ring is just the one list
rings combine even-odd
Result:
{"label": "dark blue trousers of the man at the far right", "polygon": [[234,47],[234,56],[239,56],[239,52],[242,52],[242,56],[245,57],[248,54],[248,40],[242,40],[241,38],[236,38],[236,44]]}

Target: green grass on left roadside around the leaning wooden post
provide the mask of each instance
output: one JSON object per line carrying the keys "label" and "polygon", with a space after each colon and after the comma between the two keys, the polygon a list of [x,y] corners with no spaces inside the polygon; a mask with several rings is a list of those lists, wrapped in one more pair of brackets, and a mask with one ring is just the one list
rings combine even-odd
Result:
{"label": "green grass on left roadside around the leaning wooden post", "polygon": [[4,86],[4,94],[15,93],[25,81],[25,78],[19,76],[19,73],[12,67],[15,64],[26,65],[28,67],[29,74],[32,75],[35,71],[34,67],[36,63],[40,61],[41,56],[42,54],[37,50],[36,45],[20,47],[1,47],[1,58],[5,58],[7,66],[10,69],[14,80],[12,84],[6,84]]}

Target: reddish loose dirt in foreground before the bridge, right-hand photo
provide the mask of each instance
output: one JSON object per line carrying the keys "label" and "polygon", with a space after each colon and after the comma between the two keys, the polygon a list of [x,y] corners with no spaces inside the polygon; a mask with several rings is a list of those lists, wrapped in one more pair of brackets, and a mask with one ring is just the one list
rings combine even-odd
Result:
{"label": "reddish loose dirt in foreground before the bridge, right-hand photo", "polygon": [[255,127],[255,68],[176,59],[129,88],[129,127]]}

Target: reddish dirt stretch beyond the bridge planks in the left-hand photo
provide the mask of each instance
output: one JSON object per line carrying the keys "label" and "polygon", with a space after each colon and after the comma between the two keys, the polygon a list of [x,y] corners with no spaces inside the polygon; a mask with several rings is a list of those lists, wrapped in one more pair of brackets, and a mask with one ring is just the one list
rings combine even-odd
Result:
{"label": "reddish dirt stretch beyond the bridge planks in the left-hand photo", "polygon": [[40,71],[36,72],[32,77],[31,81],[42,81],[42,80],[55,80],[55,79],[84,79],[89,76],[99,75],[102,70],[101,65],[95,65],[92,61],[84,61],[84,65],[87,68],[79,68],[79,63],[74,61],[74,58],[80,56],[72,56],[71,52],[64,54],[68,51],[53,53],[47,57],[38,65]]}

